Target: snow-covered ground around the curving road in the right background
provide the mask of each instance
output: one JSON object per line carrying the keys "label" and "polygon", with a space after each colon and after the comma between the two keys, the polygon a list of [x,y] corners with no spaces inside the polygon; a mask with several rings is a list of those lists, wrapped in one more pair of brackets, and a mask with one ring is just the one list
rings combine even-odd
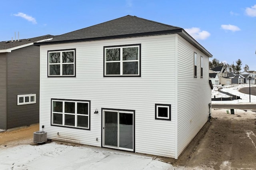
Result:
{"label": "snow-covered ground around the curving road in the right background", "polygon": [[[239,103],[242,103],[242,104],[255,104],[256,103],[256,96],[254,95],[251,95],[251,103],[250,103],[250,97],[249,95],[247,94],[244,94],[244,93],[240,93],[239,92],[239,89],[241,88],[244,88],[244,87],[249,87],[248,84],[242,84],[242,85],[224,85],[224,86],[216,86],[214,85],[214,88],[212,90],[212,98],[214,98],[214,96],[216,98],[219,98],[219,97],[230,97],[228,95],[225,95],[223,93],[220,93],[218,91],[218,88],[223,88],[221,89],[222,91],[224,92],[228,92],[232,95],[236,95],[236,96],[240,96],[241,99],[238,99],[238,100],[233,100],[233,101],[212,101],[212,104],[239,104]],[[256,85],[250,85],[251,89],[252,88],[256,88]]]}

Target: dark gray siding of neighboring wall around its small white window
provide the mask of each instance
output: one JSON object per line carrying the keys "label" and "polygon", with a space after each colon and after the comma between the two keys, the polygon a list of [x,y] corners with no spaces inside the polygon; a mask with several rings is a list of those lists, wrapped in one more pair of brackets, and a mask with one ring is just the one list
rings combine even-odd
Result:
{"label": "dark gray siding of neighboring wall around its small white window", "polygon": [[[31,45],[8,53],[7,128],[39,122],[40,47]],[[17,105],[17,95],[36,94],[36,103]]]}

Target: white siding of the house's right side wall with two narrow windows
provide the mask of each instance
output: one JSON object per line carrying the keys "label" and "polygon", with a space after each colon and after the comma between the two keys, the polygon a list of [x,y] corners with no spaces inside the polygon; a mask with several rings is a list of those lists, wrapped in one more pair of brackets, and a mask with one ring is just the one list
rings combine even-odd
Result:
{"label": "white siding of the house's right side wall with two narrow windows", "polygon": [[[194,77],[194,52],[197,53],[197,77]],[[200,56],[203,77],[200,77]],[[208,57],[178,36],[178,138],[177,155],[194,138],[208,120],[211,103]]]}

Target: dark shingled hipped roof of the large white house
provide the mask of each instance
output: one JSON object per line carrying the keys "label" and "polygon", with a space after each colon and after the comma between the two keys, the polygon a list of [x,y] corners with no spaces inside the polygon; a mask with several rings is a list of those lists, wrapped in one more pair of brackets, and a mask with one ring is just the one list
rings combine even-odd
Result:
{"label": "dark shingled hipped roof of the large white house", "polygon": [[194,40],[188,33],[186,33],[184,29],[130,15],[59,36],[54,36],[53,40],[35,43],[35,45],[85,42],[93,40],[108,40],[162,34],[179,34],[182,36],[182,38],[187,40],[196,48],[200,49],[200,51],[205,53],[208,57],[212,57],[212,54],[204,49],[202,45],[196,42],[196,40]]}

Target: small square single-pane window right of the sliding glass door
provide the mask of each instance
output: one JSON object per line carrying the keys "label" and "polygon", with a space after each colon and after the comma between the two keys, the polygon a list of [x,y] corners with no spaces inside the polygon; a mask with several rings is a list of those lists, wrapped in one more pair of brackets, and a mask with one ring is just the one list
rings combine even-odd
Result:
{"label": "small square single-pane window right of the sliding glass door", "polygon": [[155,119],[171,121],[171,105],[155,104]]}

